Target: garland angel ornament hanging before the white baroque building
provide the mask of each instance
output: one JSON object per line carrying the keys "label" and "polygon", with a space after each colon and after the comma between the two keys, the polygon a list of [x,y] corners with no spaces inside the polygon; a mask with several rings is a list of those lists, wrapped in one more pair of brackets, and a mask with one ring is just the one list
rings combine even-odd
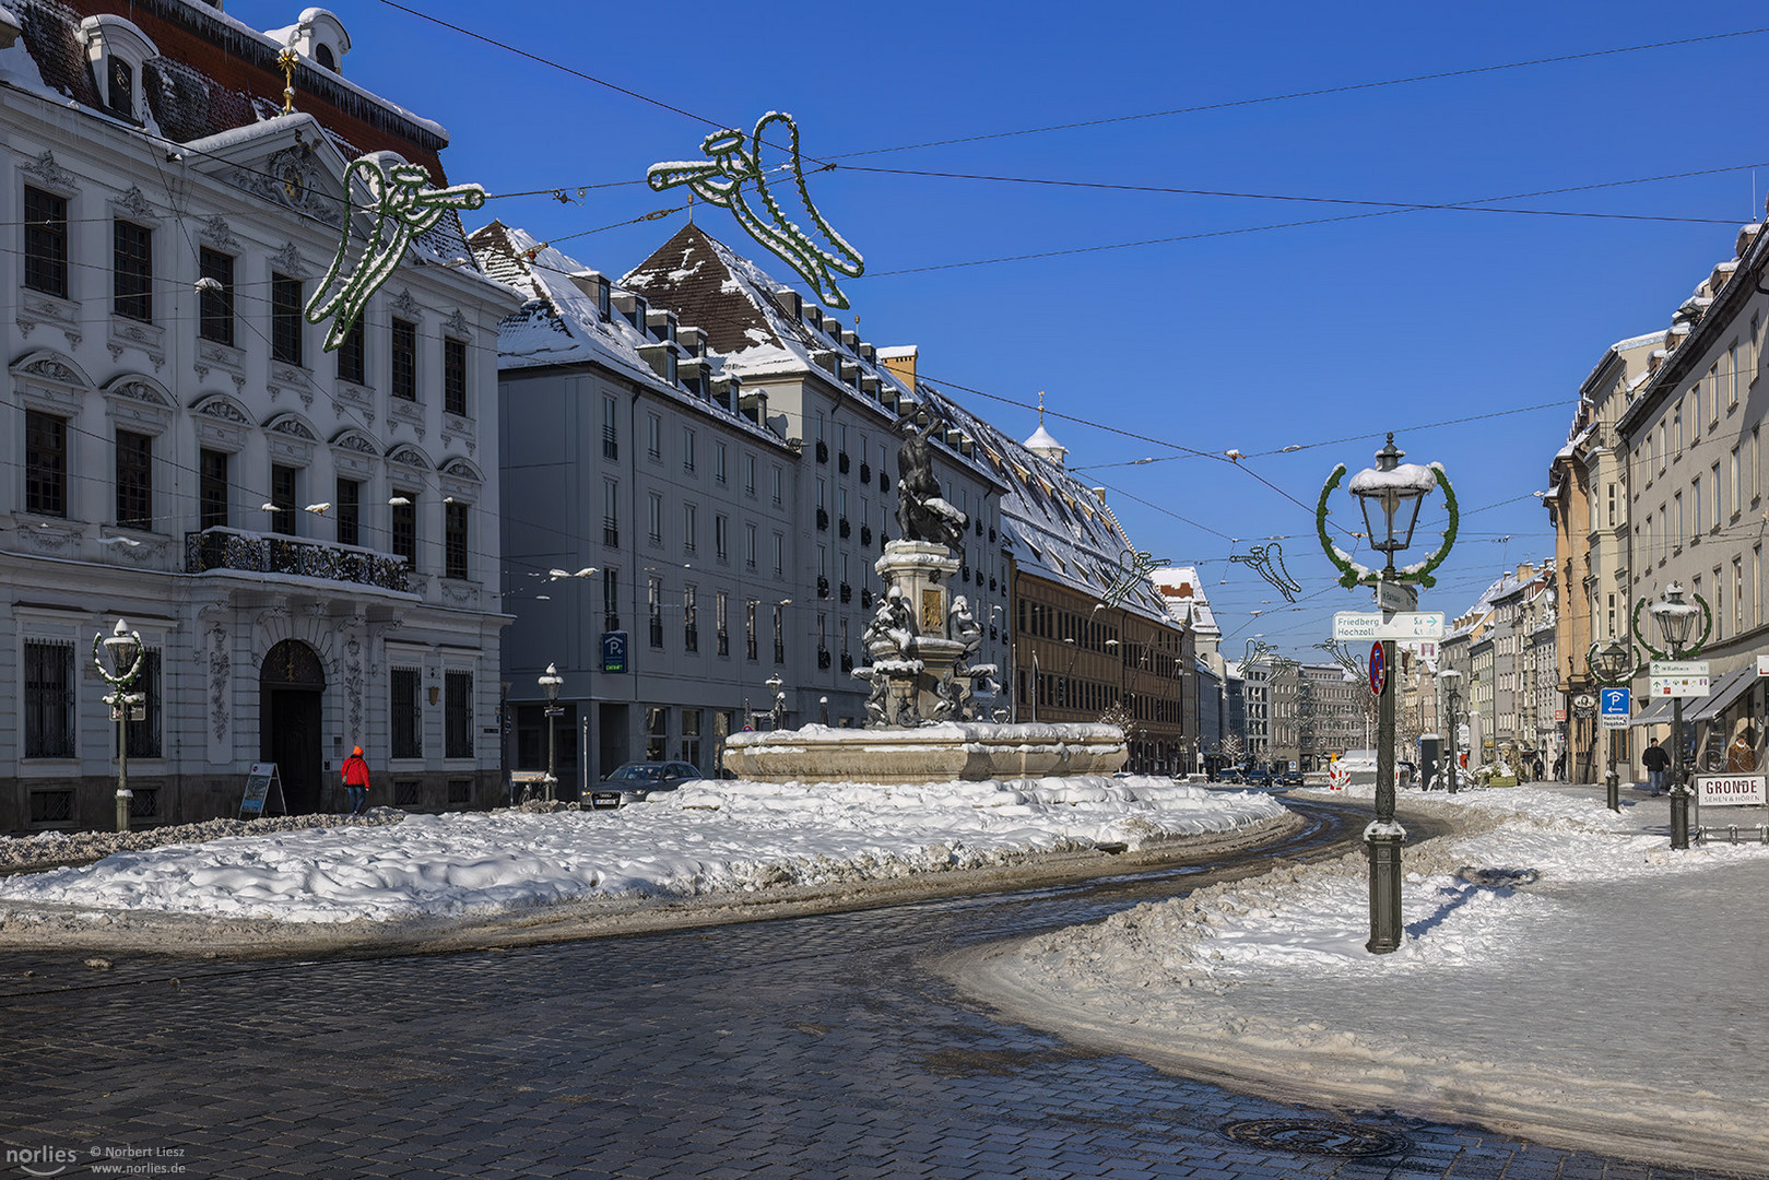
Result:
{"label": "garland angel ornament hanging before the white baroque building", "polygon": [[[345,168],[345,219],[338,237],[338,255],[325,278],[308,299],[308,324],[331,317],[325,329],[325,350],[336,352],[350,334],[350,326],[382,283],[393,278],[405,248],[412,239],[442,219],[449,209],[479,209],[485,189],[478,184],[455,184],[446,189],[430,188],[430,173],[423,165],[412,165],[393,152],[361,156]],[[354,184],[352,184],[354,182]],[[368,195],[366,216],[373,230],[357,257],[348,278],[340,280],[345,258],[350,255],[350,193],[359,188]]]}

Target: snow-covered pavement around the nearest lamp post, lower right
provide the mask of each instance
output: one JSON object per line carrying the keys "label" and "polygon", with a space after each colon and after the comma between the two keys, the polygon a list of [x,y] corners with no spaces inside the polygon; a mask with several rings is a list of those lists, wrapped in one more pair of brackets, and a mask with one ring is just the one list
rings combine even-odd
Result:
{"label": "snow-covered pavement around the nearest lamp post, lower right", "polygon": [[1686,1161],[1689,1141],[1769,1159],[1769,1060],[1734,1033],[1760,1024],[1769,847],[1673,853],[1656,800],[1613,814],[1589,791],[1435,805],[1463,835],[1403,854],[1394,954],[1364,948],[1359,851],[1030,939],[962,980],[1028,1023],[1298,1100],[1647,1155],[1677,1125]]}

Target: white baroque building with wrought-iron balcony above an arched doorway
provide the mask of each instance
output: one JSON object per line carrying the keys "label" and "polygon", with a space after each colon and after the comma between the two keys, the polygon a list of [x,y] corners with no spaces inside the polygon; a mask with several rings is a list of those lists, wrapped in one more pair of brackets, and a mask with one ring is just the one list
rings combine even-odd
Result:
{"label": "white baroque building with wrought-iron balcony above an arched doorway", "polygon": [[4,16],[0,830],[110,826],[92,644],[119,617],[145,644],[134,823],[232,816],[260,762],[292,810],[333,808],[354,745],[377,803],[490,801],[515,301],[448,216],[343,349],[302,318],[350,159],[442,186],[448,133],[345,81],[320,9],[272,34],[195,0]]}

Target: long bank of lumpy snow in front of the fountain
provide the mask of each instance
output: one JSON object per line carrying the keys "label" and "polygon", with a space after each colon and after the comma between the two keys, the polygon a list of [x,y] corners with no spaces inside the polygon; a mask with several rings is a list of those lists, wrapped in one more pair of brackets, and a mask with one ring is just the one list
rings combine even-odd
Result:
{"label": "long bank of lumpy snow in front of the fountain", "polygon": [[1141,847],[1277,817],[1268,796],[1171,778],[697,782],[610,812],[409,816],[117,853],[0,881],[9,902],[285,922],[488,915],[596,897],[697,897]]}

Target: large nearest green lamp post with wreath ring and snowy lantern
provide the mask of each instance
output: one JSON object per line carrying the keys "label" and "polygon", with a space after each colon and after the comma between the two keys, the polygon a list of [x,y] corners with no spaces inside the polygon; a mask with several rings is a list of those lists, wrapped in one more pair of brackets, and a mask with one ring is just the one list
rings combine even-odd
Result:
{"label": "large nearest green lamp post with wreath ring and snowy lantern", "polygon": [[[1380,451],[1376,465],[1352,476],[1350,492],[1364,510],[1364,529],[1369,547],[1383,556],[1382,570],[1366,570],[1352,561],[1327,536],[1327,497],[1339,479],[1344,478],[1344,464],[1339,464],[1327,485],[1321,488],[1320,504],[1314,508],[1314,531],[1320,538],[1327,559],[1339,570],[1339,584],[1344,587],[1373,586],[1376,605],[1383,614],[1396,609],[1412,610],[1417,593],[1406,584],[1435,586],[1431,571],[1444,564],[1451,547],[1456,543],[1456,492],[1440,464],[1421,467],[1419,464],[1401,464],[1406,453],[1394,446],[1394,435]],[[1424,563],[1394,568],[1394,554],[1406,550],[1413,543],[1413,525],[1419,524],[1419,506],[1433,488],[1444,488],[1444,504],[1449,510],[1449,529],[1444,533],[1444,545]],[[1371,649],[1371,662],[1376,651]],[[1369,941],[1366,950],[1373,955],[1385,955],[1401,946],[1401,846],[1406,842],[1406,828],[1394,821],[1394,640],[1382,640],[1382,674],[1373,669],[1371,688],[1380,699],[1380,718],[1376,729],[1376,819],[1364,830],[1369,846]]]}

